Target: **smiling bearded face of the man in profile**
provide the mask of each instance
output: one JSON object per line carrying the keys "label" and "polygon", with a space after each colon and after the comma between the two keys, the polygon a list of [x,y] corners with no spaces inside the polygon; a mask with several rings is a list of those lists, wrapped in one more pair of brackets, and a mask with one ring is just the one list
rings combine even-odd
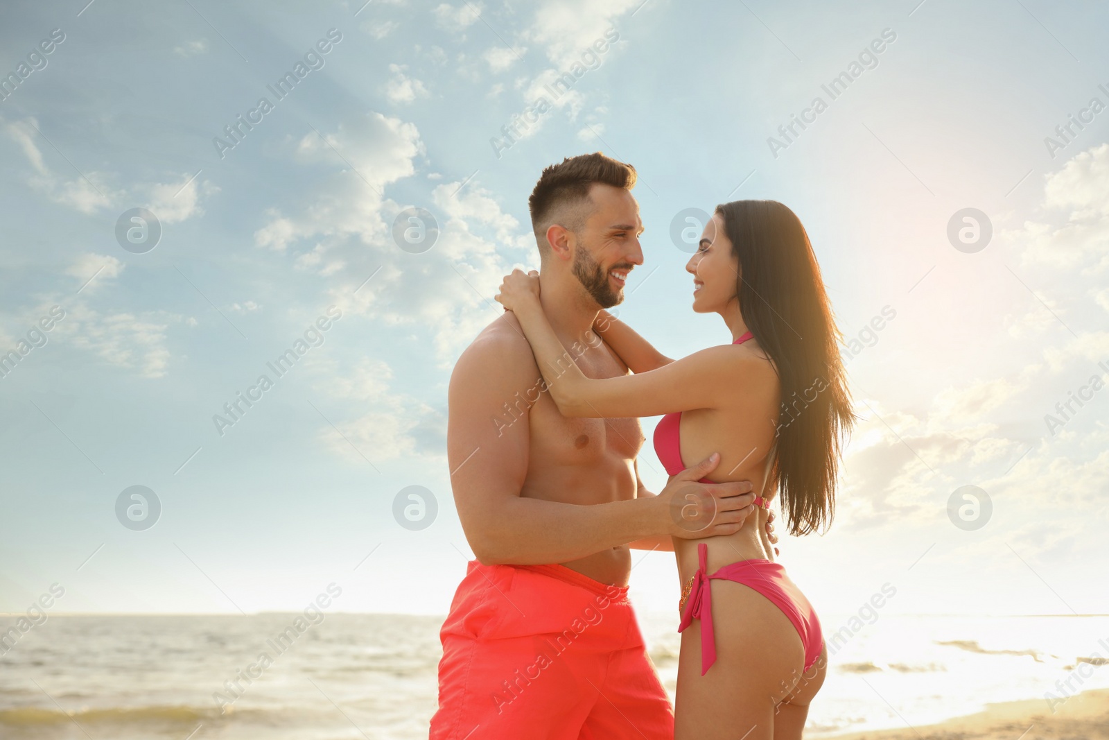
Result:
{"label": "smiling bearded face of the man in profile", "polygon": [[639,203],[631,192],[593,183],[589,196],[593,212],[577,232],[573,274],[602,308],[623,301],[628,273],[643,264],[639,235]]}

